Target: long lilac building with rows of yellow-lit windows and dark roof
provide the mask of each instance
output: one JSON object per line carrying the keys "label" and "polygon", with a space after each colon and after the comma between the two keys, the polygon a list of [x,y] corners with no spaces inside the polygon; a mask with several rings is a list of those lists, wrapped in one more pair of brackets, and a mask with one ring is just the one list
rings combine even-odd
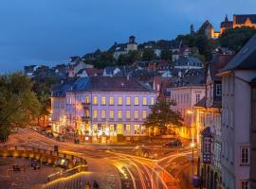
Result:
{"label": "long lilac building with rows of yellow-lit windows and dark roof", "polygon": [[[156,92],[131,77],[81,77],[65,93],[65,127],[92,142],[137,140]],[[56,114],[56,113],[54,113]]]}

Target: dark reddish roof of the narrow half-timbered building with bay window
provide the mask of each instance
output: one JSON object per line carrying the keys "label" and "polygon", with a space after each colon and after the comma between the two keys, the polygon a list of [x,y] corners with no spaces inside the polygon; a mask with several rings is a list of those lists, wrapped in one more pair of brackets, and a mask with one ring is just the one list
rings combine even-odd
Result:
{"label": "dark reddish roof of the narrow half-timbered building with bay window", "polygon": [[221,80],[221,77],[217,76],[219,70],[224,68],[233,57],[233,55],[217,54],[212,58],[212,60],[210,60],[209,69],[212,80]]}

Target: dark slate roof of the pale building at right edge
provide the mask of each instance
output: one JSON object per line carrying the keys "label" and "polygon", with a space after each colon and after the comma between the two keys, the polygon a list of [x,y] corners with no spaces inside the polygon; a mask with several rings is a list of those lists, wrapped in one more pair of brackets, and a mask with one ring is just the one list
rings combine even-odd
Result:
{"label": "dark slate roof of the pale building at right edge", "polygon": [[220,71],[256,69],[256,34]]}

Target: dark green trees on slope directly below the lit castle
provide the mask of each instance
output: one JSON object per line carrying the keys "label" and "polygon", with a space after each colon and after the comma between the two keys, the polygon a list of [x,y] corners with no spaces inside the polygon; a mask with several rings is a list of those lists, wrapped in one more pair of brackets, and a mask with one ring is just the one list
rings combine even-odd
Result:
{"label": "dark green trees on slope directly below the lit castle", "polygon": [[256,33],[255,28],[236,27],[227,29],[219,38],[219,43],[223,47],[238,52],[247,41]]}

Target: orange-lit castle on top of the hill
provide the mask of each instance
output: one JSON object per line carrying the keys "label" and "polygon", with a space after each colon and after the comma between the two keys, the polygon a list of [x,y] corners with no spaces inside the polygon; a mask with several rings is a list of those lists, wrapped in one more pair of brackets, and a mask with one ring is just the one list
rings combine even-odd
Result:
{"label": "orange-lit castle on top of the hill", "polygon": [[210,24],[209,21],[206,21],[201,27],[200,30],[204,30],[207,37],[210,39],[218,38],[225,30],[229,28],[236,27],[254,27],[256,28],[256,14],[241,14],[233,15],[233,20],[229,21],[228,16],[226,15],[225,20],[221,22],[220,31],[215,31],[214,27]]}

